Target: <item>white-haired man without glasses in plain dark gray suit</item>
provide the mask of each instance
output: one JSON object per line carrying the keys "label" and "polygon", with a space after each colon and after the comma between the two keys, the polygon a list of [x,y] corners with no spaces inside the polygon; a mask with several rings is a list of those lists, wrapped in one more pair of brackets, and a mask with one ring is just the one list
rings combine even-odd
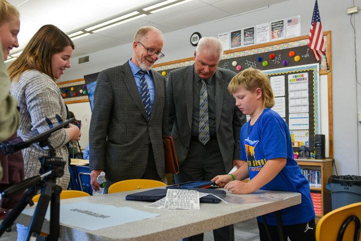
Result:
{"label": "white-haired man without glasses in plain dark gray suit", "polygon": [[[179,163],[175,183],[211,180],[242,165],[240,132],[246,116],[227,86],[235,72],[218,68],[223,45],[202,38],[195,64],[169,73],[169,133]],[[215,240],[234,240],[233,225],[214,230]],[[203,240],[203,233],[193,237]]]}

